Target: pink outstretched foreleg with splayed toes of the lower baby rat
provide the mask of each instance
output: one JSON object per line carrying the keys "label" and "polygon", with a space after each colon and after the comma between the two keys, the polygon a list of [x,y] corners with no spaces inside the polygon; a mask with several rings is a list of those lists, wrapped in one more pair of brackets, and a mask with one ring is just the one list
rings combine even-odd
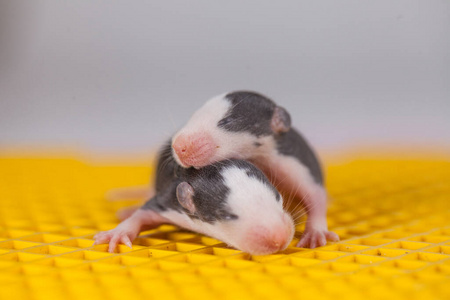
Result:
{"label": "pink outstretched foreleg with splayed toes of the lower baby rat", "polygon": [[118,243],[131,248],[131,242],[143,228],[151,229],[168,222],[169,220],[153,210],[138,209],[116,228],[96,234],[94,245],[109,243],[108,251],[110,253],[114,252]]}

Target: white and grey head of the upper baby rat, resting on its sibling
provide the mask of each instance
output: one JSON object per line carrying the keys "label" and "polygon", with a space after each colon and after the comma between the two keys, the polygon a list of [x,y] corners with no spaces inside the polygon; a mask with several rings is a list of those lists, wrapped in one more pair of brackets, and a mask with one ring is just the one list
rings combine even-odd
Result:
{"label": "white and grey head of the upper baby rat, resting on its sibling", "polygon": [[267,97],[238,91],[212,98],[172,139],[175,160],[200,168],[227,158],[250,159],[289,131],[288,112]]}

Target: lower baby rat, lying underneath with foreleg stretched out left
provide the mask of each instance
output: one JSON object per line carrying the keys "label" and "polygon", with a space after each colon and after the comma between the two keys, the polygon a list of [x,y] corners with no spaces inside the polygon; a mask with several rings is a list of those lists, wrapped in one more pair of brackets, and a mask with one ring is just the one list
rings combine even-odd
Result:
{"label": "lower baby rat, lying underneath with foreleg stretched out left", "polygon": [[202,168],[182,168],[171,144],[163,147],[157,165],[155,196],[115,229],[100,232],[95,244],[131,247],[143,229],[173,223],[200,232],[250,254],[285,249],[294,222],[283,198],[266,176],[247,161],[229,159]]}

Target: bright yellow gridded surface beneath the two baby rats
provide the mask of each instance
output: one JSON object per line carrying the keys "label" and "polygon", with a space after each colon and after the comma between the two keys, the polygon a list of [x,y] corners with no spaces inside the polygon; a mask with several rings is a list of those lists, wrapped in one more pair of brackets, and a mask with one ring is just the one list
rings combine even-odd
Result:
{"label": "bright yellow gridded surface beneath the two baby rats", "polygon": [[105,192],[149,176],[145,164],[0,157],[0,299],[450,299],[448,161],[330,165],[342,240],[314,250],[250,256],[174,226],[132,250],[92,246],[135,204]]}

